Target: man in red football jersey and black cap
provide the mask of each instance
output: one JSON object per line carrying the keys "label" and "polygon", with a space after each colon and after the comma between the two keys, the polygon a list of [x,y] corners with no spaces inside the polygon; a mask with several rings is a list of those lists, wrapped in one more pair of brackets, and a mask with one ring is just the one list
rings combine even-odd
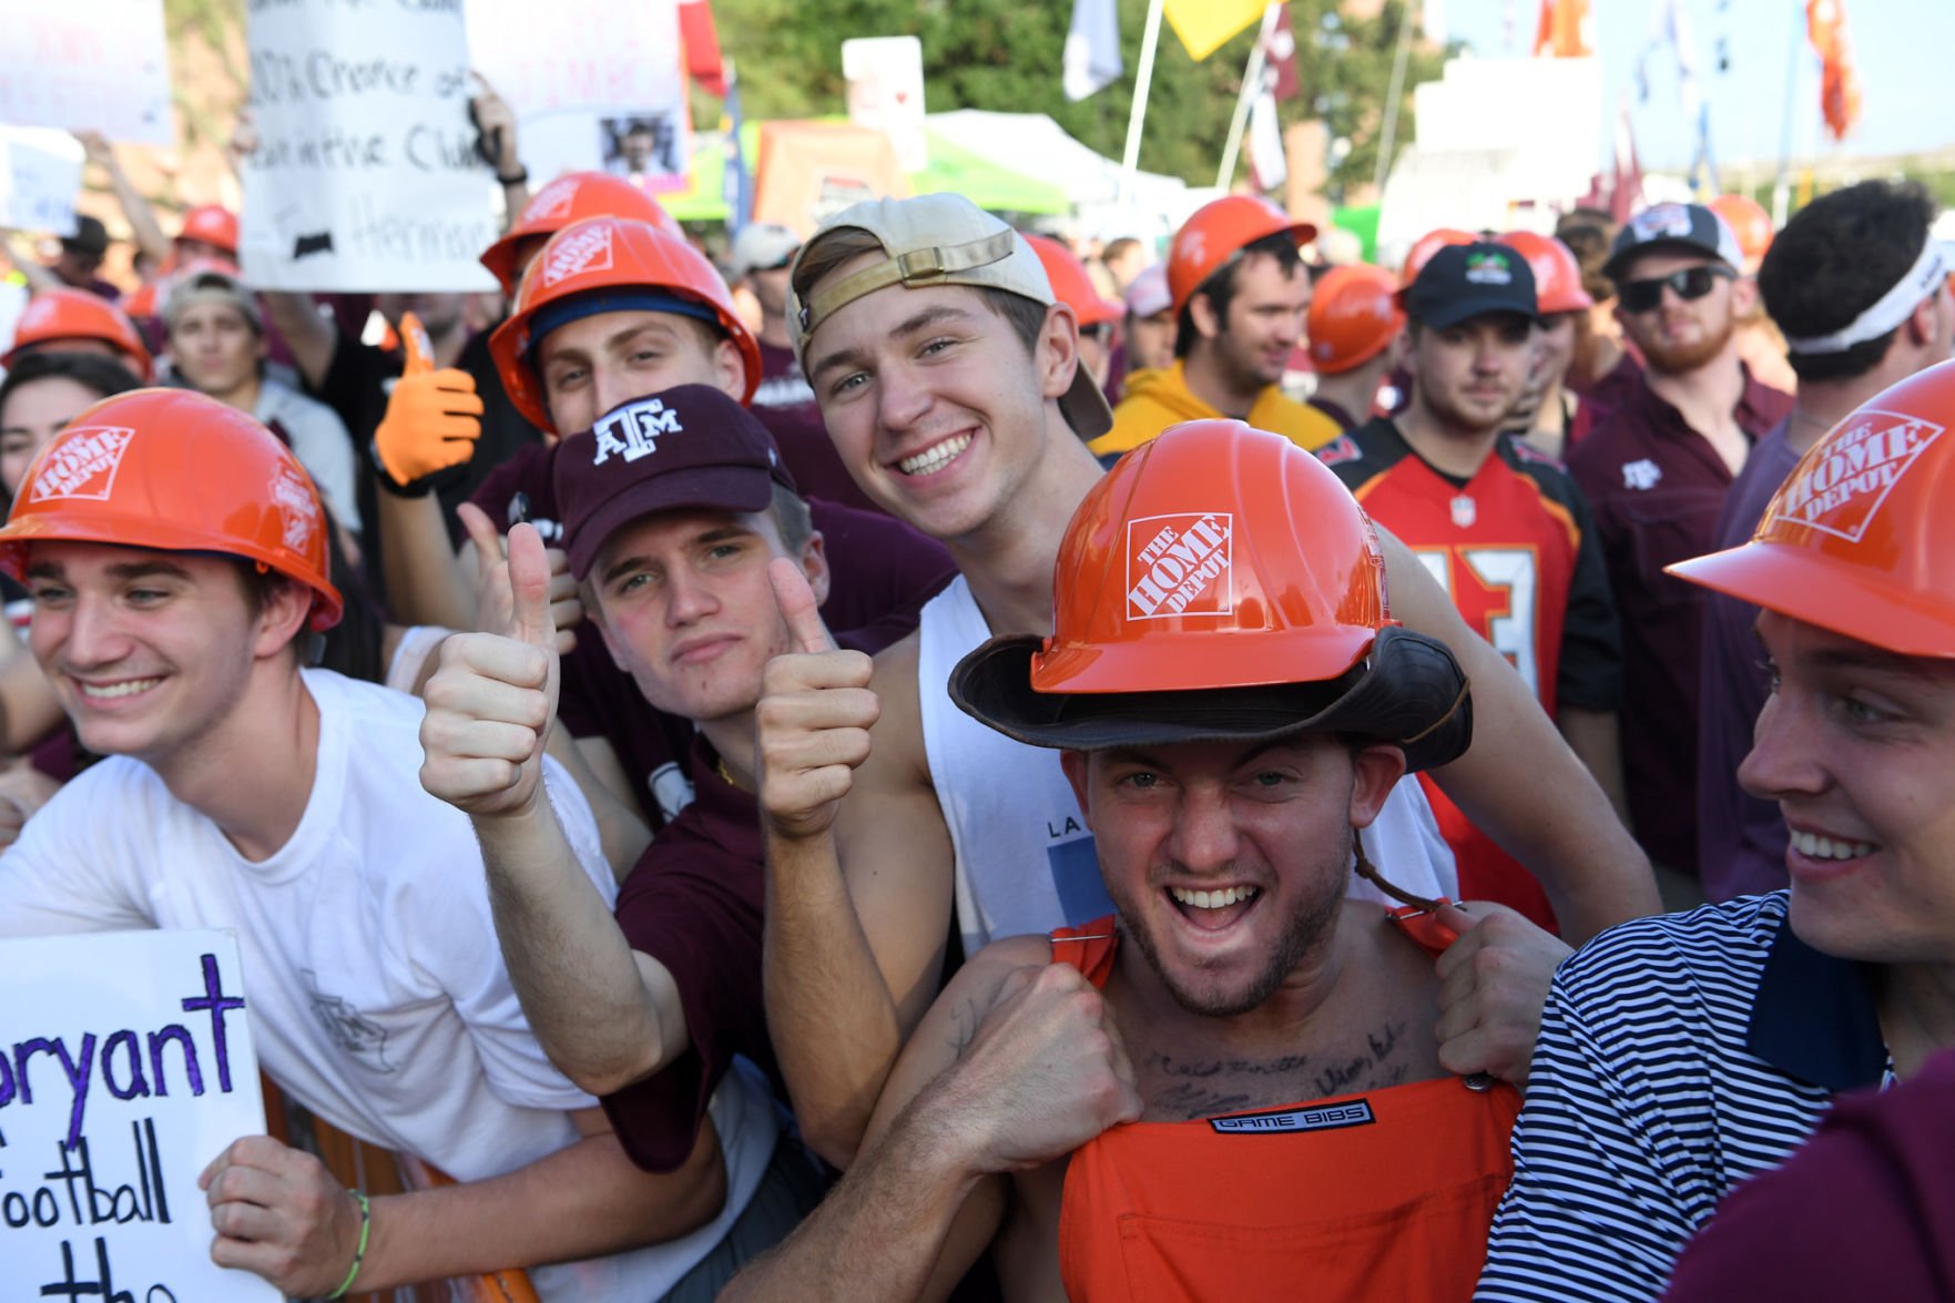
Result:
{"label": "man in red football jersey and black cap", "polygon": [[[1318,450],[1412,548],[1460,616],[1519,671],[1568,745],[1621,802],[1621,642],[1587,503],[1560,466],[1501,434],[1527,383],[1535,278],[1505,245],[1449,245],[1400,295],[1412,401]],[[1542,927],[1533,876],[1429,786],[1460,894]]]}

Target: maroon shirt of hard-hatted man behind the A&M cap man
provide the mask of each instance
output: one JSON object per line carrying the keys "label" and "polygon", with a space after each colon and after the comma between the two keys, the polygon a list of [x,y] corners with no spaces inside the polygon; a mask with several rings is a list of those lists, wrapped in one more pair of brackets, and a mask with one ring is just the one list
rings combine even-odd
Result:
{"label": "maroon shirt of hard-hatted man behind the A&M cap man", "polygon": [[[469,501],[502,530],[526,518],[547,546],[561,548],[563,526],[551,481],[559,446],[518,450]],[[516,509],[518,499],[522,511]],[[821,499],[807,499],[807,513],[821,530],[829,560],[829,599],[821,605],[821,618],[831,630],[847,630],[835,634],[845,648],[874,650],[895,642],[917,626],[923,603],[956,573],[940,542],[901,520]],[[692,722],[647,702],[631,675],[612,661],[596,630],[581,630],[577,648],[563,657],[557,720],[573,738],[610,741],[653,828],[684,804],[680,759],[692,740]]]}

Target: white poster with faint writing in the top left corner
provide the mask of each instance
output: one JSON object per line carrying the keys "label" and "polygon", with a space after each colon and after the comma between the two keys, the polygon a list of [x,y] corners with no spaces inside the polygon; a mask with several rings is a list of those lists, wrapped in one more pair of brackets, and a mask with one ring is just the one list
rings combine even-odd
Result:
{"label": "white poster with faint writing in the top left corner", "polygon": [[162,0],[18,0],[0,31],[0,123],[176,143]]}

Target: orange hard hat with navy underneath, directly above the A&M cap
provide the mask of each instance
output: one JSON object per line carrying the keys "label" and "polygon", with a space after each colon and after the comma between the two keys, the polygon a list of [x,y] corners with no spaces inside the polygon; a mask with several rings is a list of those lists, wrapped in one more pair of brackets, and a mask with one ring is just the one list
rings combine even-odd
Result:
{"label": "orange hard hat with navy underneath, directly above the A&M cap", "polygon": [[[588,295],[588,297],[585,297]],[[577,299],[577,303],[571,303]],[[760,344],[733,309],[733,293],[698,248],[628,217],[573,221],[530,258],[508,321],[489,337],[489,354],[508,401],[540,430],[559,430],[530,366],[530,346],[551,329],[606,311],[669,311],[716,323],[747,364],[747,391],[760,387]]]}

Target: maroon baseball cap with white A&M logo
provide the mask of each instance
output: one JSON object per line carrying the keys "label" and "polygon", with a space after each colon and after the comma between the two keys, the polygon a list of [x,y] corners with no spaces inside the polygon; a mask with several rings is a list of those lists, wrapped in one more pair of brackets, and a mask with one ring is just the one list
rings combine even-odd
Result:
{"label": "maroon baseball cap with white A&M logo", "polygon": [[620,526],[676,507],[764,511],[794,489],[774,436],[712,385],[678,385],[598,417],[557,448],[557,513],[583,579]]}

